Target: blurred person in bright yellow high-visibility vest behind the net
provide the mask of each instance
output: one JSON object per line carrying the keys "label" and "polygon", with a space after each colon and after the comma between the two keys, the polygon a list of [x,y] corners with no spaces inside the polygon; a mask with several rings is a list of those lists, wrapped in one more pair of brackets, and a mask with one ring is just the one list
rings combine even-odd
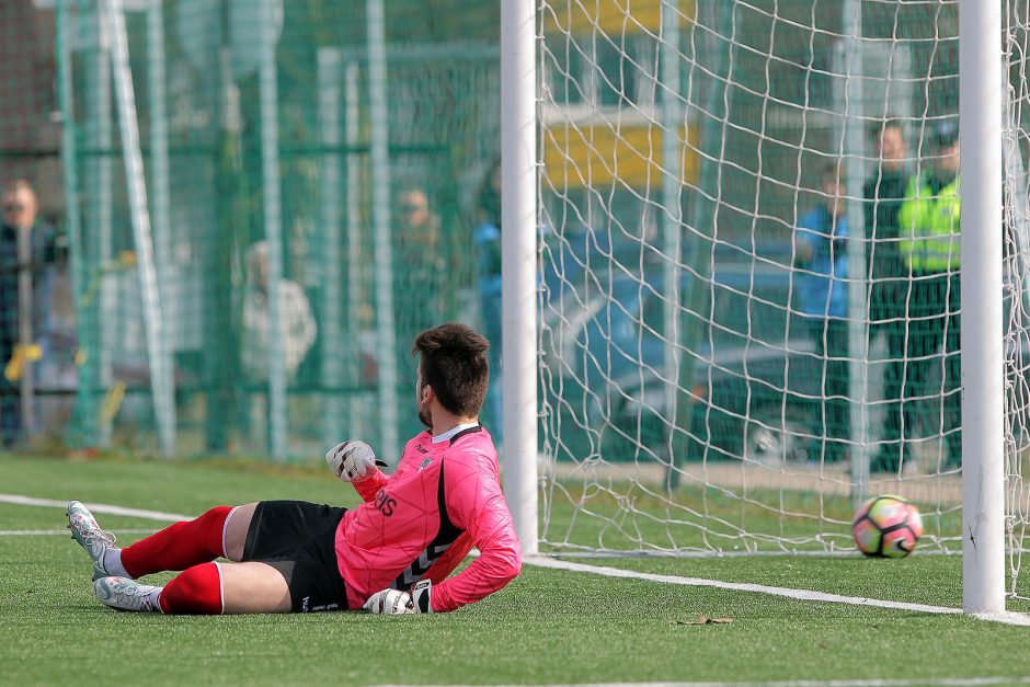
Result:
{"label": "blurred person in bright yellow high-visibility vest behind the net", "polygon": [[[908,181],[897,214],[899,253],[911,278],[905,297],[905,382],[903,439],[917,424],[917,405],[945,394],[943,408],[928,410],[922,434],[943,435],[947,468],[962,458],[961,369],[959,357],[959,127],[937,124],[929,164]],[[939,374],[934,374],[934,370]],[[943,412],[940,412],[940,411]],[[902,445],[884,446],[873,469],[903,467]]]}

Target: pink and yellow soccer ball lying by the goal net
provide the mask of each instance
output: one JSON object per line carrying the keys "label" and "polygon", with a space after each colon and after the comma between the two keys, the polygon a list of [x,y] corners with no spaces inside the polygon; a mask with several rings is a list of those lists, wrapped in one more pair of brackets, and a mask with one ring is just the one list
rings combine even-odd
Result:
{"label": "pink and yellow soccer ball lying by the goal net", "polygon": [[851,520],[851,533],[866,556],[905,558],[923,536],[923,518],[901,496],[884,494],[862,504]]}

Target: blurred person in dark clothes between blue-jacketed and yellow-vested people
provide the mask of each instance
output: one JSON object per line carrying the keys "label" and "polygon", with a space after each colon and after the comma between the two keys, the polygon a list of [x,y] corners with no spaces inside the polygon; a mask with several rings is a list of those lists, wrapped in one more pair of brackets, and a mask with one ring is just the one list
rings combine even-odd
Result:
{"label": "blurred person in dark clothes between blue-jacketed and yellow-vested people", "polygon": [[[896,463],[901,450],[901,385],[905,356],[905,298],[908,267],[899,251],[897,214],[908,186],[905,134],[897,119],[888,119],[876,133],[876,170],[866,180],[866,236],[870,337],[883,333],[886,343],[884,421],[874,463]],[[893,458],[892,458],[893,456]]]}

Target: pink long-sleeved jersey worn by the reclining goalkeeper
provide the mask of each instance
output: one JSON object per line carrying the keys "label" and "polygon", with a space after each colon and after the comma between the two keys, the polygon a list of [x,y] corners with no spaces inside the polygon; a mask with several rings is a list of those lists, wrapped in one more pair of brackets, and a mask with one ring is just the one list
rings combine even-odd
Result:
{"label": "pink long-sleeved jersey worn by the reclining goalkeeper", "polygon": [[[433,581],[433,610],[454,610],[518,574],[522,551],[501,493],[497,451],[481,425],[437,444],[423,432],[404,446],[393,474],[375,470],[354,488],[365,503],[336,529],[352,610],[376,592],[407,592],[425,577]],[[448,580],[473,546],[479,558]]]}

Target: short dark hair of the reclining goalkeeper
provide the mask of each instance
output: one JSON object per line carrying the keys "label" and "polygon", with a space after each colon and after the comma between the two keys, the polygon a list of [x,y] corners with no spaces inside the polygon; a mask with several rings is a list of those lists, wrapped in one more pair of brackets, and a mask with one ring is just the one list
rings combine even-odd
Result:
{"label": "short dark hair of the reclining goalkeeper", "polygon": [[433,387],[440,405],[456,415],[478,415],[487,398],[490,342],[458,322],[427,329],[411,347],[422,355],[422,383]]}

